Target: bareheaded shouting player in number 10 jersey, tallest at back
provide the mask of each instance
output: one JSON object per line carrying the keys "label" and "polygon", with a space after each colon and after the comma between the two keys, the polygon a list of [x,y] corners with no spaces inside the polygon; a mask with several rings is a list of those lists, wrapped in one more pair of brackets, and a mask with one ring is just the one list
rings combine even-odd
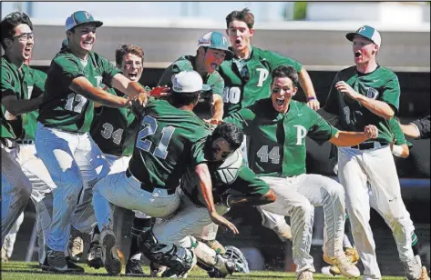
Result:
{"label": "bareheaded shouting player in number 10 jersey, tallest at back", "polygon": [[[255,32],[253,25],[254,15],[248,8],[232,11],[226,16],[226,34],[234,55],[227,58],[219,68],[225,83],[222,95],[224,116],[252,105],[259,99],[270,97],[271,72],[278,65],[292,65],[296,69],[307,105],[317,110],[320,107],[319,101],[303,65],[290,57],[251,45],[251,38]],[[247,158],[245,144],[244,140],[242,148],[244,157]],[[262,225],[274,230],[282,240],[291,238],[291,230],[285,223],[284,216],[270,214],[261,208],[258,210],[262,214]]]}

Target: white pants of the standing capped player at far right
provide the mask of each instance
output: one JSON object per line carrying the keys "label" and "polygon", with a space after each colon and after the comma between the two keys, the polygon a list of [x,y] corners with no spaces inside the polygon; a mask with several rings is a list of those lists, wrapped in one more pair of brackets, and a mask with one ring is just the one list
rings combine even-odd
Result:
{"label": "white pants of the standing capped player at far right", "polygon": [[364,275],[381,276],[375,255],[375,240],[369,224],[370,195],[367,182],[375,200],[375,209],[393,232],[400,260],[412,260],[413,222],[401,197],[389,145],[368,150],[339,147],[338,177],[344,185],[354,245],[364,264]]}

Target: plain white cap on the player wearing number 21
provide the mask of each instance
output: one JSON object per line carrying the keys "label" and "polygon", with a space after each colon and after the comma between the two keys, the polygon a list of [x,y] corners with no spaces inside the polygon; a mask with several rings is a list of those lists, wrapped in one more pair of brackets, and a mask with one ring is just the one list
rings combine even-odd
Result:
{"label": "plain white cap on the player wearing number 21", "polygon": [[182,71],[172,75],[172,90],[176,93],[194,93],[209,91],[210,85],[203,84],[202,77],[196,71]]}

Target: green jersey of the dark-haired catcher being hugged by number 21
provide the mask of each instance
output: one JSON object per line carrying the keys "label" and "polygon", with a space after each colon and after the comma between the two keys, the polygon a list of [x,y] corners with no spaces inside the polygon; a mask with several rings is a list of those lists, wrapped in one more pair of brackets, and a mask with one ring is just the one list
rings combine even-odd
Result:
{"label": "green jersey of the dark-haired catcher being hugged by number 21", "polygon": [[[244,165],[241,150],[235,151],[222,163],[208,163],[212,182],[214,203],[221,201],[221,196],[228,193],[262,196],[270,187],[251,169]],[[203,195],[200,194],[199,178],[193,168],[188,168],[181,179],[181,188],[196,204],[205,207]]]}

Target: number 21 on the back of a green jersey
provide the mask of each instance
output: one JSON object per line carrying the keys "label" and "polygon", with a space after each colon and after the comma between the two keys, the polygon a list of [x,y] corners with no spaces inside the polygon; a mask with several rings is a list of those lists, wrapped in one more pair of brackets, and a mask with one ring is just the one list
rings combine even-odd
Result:
{"label": "number 21 on the back of a green jersey", "polygon": [[[138,138],[136,141],[136,147],[145,152],[149,152],[149,148],[153,143],[149,141],[149,139],[145,138],[149,135],[154,135],[159,125],[157,124],[156,119],[149,115],[146,115],[144,117],[140,125],[144,126],[144,128],[139,131]],[[166,158],[166,156],[168,155],[168,145],[170,142],[170,138],[172,137],[174,131],[175,128],[172,126],[163,127],[163,129],[161,130],[161,138],[159,140],[159,145],[157,145],[156,149],[153,152],[154,156],[157,156],[162,159]]]}

